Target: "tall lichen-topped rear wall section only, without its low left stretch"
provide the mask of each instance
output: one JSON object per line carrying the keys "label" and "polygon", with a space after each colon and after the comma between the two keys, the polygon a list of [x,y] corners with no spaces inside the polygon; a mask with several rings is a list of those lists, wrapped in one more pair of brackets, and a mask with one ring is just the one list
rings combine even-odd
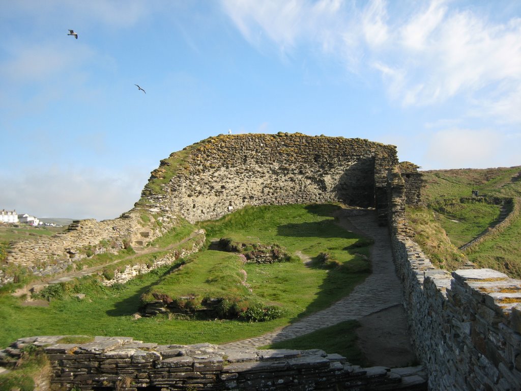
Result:
{"label": "tall lichen-topped rear wall section only, without its low left stretch", "polygon": [[196,222],[245,205],[341,201],[376,206],[375,175],[398,160],[393,145],[279,133],[209,138],[191,149],[186,162],[163,186],[164,196],[149,195],[145,187],[142,202]]}

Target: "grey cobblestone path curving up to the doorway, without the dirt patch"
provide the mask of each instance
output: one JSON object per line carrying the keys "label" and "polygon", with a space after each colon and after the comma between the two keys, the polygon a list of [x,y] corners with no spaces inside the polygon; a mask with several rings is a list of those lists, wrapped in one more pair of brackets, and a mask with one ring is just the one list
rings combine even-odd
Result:
{"label": "grey cobblestone path curving up to the doorway, without the dirt patch", "polygon": [[375,211],[343,209],[338,214],[339,225],[375,240],[371,250],[371,273],[351,294],[331,307],[316,312],[279,331],[259,337],[235,341],[224,346],[237,349],[256,348],[273,342],[311,333],[319,328],[356,320],[402,303],[401,285],[394,271],[387,227],[379,227]]}

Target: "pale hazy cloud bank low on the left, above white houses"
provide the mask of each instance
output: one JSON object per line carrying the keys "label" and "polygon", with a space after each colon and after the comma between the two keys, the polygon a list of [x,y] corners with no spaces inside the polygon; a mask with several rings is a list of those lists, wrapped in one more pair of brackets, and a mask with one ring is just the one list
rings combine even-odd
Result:
{"label": "pale hazy cloud bank low on the left, above white houses", "polygon": [[2,174],[9,186],[0,204],[36,217],[115,218],[139,200],[148,178],[146,169],[126,168],[108,172],[93,168],[44,168],[26,170],[16,177]]}

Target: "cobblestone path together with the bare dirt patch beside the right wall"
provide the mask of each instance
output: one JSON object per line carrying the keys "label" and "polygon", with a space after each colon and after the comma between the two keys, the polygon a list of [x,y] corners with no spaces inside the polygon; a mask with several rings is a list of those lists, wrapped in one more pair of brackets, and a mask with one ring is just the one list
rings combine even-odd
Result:
{"label": "cobblestone path together with the bare dirt patch beside the right wall", "polygon": [[[254,349],[302,336],[343,321],[358,320],[359,346],[373,365],[404,366],[415,361],[402,307],[402,288],[394,270],[387,227],[377,223],[373,210],[342,209],[338,224],[354,233],[374,239],[370,260],[373,272],[351,294],[327,309],[289,326],[259,337],[225,344],[228,348]],[[373,315],[371,317],[371,315]],[[374,341],[379,341],[375,346]]]}

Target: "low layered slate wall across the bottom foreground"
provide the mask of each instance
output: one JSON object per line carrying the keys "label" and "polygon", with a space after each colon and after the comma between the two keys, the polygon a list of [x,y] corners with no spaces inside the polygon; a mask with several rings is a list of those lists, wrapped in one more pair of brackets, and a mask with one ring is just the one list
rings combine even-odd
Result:
{"label": "low layered slate wall across the bottom foreground", "polygon": [[30,337],[0,352],[0,365],[28,345],[44,346],[54,390],[403,390],[426,389],[420,367],[361,368],[322,350],[234,350],[210,344],[157,345],[127,337],[59,344]]}

